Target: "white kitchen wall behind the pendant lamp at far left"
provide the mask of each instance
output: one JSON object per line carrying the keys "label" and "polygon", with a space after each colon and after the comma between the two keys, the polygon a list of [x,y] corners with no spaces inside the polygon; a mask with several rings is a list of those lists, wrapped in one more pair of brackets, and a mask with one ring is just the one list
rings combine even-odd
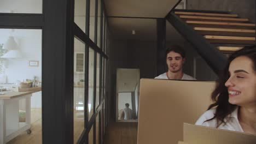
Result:
{"label": "white kitchen wall behind the pendant lamp at far left", "polygon": [[[7,82],[16,83],[18,80],[33,79],[34,76],[42,77],[42,31],[25,29],[0,29],[0,43],[5,43],[9,35],[13,35],[22,58],[8,59],[4,74]],[[39,61],[38,67],[30,67],[29,61]]]}

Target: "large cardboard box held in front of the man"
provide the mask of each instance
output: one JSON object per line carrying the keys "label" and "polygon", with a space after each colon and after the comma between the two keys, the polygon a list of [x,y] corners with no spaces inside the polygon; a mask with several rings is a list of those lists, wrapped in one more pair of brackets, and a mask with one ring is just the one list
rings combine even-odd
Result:
{"label": "large cardboard box held in front of the man", "polygon": [[211,102],[215,82],[141,79],[138,144],[178,143],[183,123],[195,123]]}

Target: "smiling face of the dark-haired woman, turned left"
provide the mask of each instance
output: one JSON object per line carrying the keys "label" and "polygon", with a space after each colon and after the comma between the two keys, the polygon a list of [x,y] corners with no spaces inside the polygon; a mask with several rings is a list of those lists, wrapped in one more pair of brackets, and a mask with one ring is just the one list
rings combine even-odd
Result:
{"label": "smiling face of the dark-haired woman, turned left", "polygon": [[246,56],[237,57],[230,63],[230,77],[225,83],[230,104],[248,106],[256,102],[256,76],[252,65],[252,60]]}

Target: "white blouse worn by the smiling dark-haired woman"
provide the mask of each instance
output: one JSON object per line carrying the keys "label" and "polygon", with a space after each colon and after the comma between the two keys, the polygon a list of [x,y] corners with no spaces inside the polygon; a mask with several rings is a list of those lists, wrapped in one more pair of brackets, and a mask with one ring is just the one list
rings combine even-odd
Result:
{"label": "white blouse worn by the smiling dark-haired woman", "polygon": [[[214,118],[211,121],[207,121],[208,119],[211,119],[214,117],[214,113],[215,113],[216,109],[211,109],[206,111],[205,113],[203,113],[203,115],[196,121],[196,125],[203,125],[206,127],[212,127],[212,128],[217,128],[217,119]],[[228,116],[226,116],[224,118],[224,121],[226,122],[227,119],[229,119],[229,121],[224,124],[220,124],[219,125],[219,129],[226,129],[226,130],[233,130],[233,131],[240,131],[243,132],[243,129],[238,121],[237,118],[237,112],[238,112],[238,107],[236,107],[236,109]]]}

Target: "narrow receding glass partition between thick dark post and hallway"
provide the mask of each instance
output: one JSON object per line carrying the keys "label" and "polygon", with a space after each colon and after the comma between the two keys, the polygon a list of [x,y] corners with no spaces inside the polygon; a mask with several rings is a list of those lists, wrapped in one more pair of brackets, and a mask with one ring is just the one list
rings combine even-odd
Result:
{"label": "narrow receding glass partition between thick dark post and hallway", "polygon": [[[83,116],[80,116],[84,122],[84,129],[75,129],[74,113],[74,143],[103,143],[104,135],[104,119],[106,119],[105,98],[107,94],[107,62],[108,62],[108,27],[107,17],[104,11],[104,2],[101,0],[75,0],[74,11],[74,37],[79,39],[79,43],[83,43],[81,49],[74,47],[75,53],[82,52],[84,55],[84,64],[80,64],[83,71],[74,73],[74,83],[82,83],[84,93],[81,91],[78,95],[84,95],[82,99]],[[77,3],[77,4],[76,4]],[[81,6],[83,5],[83,6]],[[85,10],[83,8],[86,8]],[[75,46],[75,43],[74,43]],[[77,65],[79,59],[74,59]],[[78,65],[76,66],[78,67]],[[75,69],[75,65],[74,65]],[[83,81],[83,82],[81,82]],[[76,91],[74,91],[75,93]],[[77,97],[74,95],[74,100]],[[75,104],[75,102],[74,102]],[[74,106],[74,110],[76,107]],[[82,111],[78,111],[82,112]]]}

